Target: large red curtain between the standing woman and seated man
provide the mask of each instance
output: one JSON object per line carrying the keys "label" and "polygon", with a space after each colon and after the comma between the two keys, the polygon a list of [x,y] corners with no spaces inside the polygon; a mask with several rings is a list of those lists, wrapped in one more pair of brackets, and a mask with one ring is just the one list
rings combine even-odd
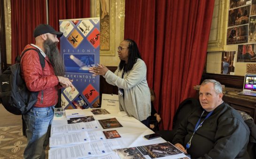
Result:
{"label": "large red curtain between the standing woman and seated man", "polygon": [[125,1],[124,38],[138,43],[164,130],[200,84],[213,7],[214,0]]}

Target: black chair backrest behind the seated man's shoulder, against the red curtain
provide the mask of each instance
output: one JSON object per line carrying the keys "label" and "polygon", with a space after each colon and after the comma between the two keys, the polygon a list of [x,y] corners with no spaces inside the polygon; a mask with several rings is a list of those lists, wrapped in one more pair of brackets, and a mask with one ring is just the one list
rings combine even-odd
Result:
{"label": "black chair backrest behind the seated man's shoulder, against the red curtain", "polygon": [[173,124],[172,124],[172,130],[177,130],[180,122],[184,119],[186,119],[190,113],[193,111],[194,108],[198,108],[200,106],[200,102],[197,99],[194,98],[187,98],[184,101],[182,101],[178,109],[173,117]]}

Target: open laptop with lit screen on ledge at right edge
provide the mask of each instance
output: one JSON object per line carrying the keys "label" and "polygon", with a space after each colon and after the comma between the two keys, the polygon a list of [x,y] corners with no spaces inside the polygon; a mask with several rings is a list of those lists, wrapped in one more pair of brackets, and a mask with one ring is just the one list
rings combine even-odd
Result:
{"label": "open laptop with lit screen on ledge at right edge", "polygon": [[245,74],[243,91],[238,94],[256,96],[256,74]]}

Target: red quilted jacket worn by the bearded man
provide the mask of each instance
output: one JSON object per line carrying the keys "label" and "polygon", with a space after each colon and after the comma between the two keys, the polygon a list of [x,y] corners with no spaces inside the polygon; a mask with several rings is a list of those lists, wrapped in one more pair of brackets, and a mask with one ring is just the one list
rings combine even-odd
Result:
{"label": "red quilted jacket worn by the bearded man", "polygon": [[[27,45],[24,50],[29,48],[35,47]],[[28,89],[39,92],[38,101],[34,107],[49,107],[57,104],[57,89],[60,86],[48,57],[45,58],[45,68],[42,70],[38,52],[34,50],[26,51],[21,59],[21,69]]]}

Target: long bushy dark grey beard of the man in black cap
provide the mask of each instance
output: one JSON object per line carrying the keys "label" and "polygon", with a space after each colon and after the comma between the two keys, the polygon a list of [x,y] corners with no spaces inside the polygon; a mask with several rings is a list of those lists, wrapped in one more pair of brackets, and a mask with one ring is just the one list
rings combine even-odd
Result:
{"label": "long bushy dark grey beard of the man in black cap", "polygon": [[45,54],[49,58],[54,68],[56,76],[64,76],[64,63],[61,54],[57,47],[57,42],[54,43],[49,38],[44,42]]}

